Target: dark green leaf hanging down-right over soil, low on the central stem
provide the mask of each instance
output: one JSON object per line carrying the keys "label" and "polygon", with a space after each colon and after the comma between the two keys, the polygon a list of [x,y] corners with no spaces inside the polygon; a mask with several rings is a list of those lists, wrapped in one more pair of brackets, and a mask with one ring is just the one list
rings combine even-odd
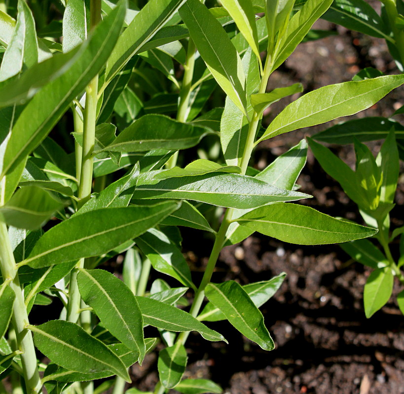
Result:
{"label": "dark green leaf hanging down-right over soil, low on the central stem", "polygon": [[205,294],[243,335],[264,350],[275,348],[261,312],[237,282],[209,283],[205,288]]}

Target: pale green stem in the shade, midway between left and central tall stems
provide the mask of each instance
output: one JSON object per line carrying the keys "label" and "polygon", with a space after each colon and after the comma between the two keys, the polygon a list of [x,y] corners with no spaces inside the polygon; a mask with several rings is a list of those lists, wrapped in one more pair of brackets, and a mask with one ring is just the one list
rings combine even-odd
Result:
{"label": "pale green stem in the shade, midway between left and central tall stems", "polygon": [[[184,79],[180,91],[180,103],[178,104],[177,120],[179,122],[186,122],[188,118],[189,99],[192,93],[192,78],[195,66],[195,43],[192,38],[189,38],[188,49],[186,51],[186,58],[184,63]],[[168,160],[166,167],[173,168],[177,165],[178,152],[176,152]]]}

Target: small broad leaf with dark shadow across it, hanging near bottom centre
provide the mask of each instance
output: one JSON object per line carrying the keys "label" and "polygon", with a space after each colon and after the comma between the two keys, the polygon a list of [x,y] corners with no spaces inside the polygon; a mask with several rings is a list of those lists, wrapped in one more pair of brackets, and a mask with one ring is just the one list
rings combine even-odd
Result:
{"label": "small broad leaf with dark shadow across it, hanging near bottom centre", "polygon": [[157,362],[158,376],[165,388],[172,389],[180,383],[187,360],[188,356],[181,342],[160,350]]}

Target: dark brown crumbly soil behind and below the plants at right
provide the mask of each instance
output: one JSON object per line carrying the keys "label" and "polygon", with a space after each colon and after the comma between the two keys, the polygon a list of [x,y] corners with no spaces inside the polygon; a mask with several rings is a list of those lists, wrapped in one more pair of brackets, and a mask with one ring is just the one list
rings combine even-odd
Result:
{"label": "dark brown crumbly soil behind and below the plants at right", "polygon": [[[317,22],[316,28],[336,29],[324,21]],[[274,73],[270,88],[302,82],[307,92],[348,81],[367,66],[398,73],[383,40],[340,27],[337,32],[336,36],[301,44],[286,65]],[[398,89],[356,116],[389,117],[403,100],[403,89]],[[266,121],[287,102],[284,99],[274,104],[273,113]],[[300,130],[263,142],[256,152],[256,167],[265,167],[305,134],[329,126]],[[380,141],[368,146],[376,154]],[[354,165],[352,146],[332,149],[346,163]],[[362,223],[356,205],[310,153],[298,184],[301,192],[314,196],[302,203]],[[404,185],[400,183],[397,206],[392,212],[394,227],[403,225],[403,200]],[[183,236],[184,245],[190,250],[188,260],[195,267],[203,268],[209,248],[201,244],[199,233],[187,229]],[[395,248],[393,245],[393,253],[397,253]],[[337,245],[300,247],[254,235],[222,251],[213,281],[233,279],[246,284],[270,279],[281,272],[288,274],[284,284],[261,308],[276,349],[265,352],[243,338],[229,323],[212,323],[209,326],[220,331],[229,345],[209,343],[198,335],[190,335],[185,377],[211,378],[226,394],[404,393],[403,316],[395,301],[391,301],[372,318],[365,318],[363,287],[370,270],[350,261]],[[202,274],[194,275],[198,281],[197,276]],[[395,288],[396,293],[401,290],[398,282]],[[141,390],[154,386],[156,359],[156,353],[152,353],[142,367],[133,367],[134,386]]]}

